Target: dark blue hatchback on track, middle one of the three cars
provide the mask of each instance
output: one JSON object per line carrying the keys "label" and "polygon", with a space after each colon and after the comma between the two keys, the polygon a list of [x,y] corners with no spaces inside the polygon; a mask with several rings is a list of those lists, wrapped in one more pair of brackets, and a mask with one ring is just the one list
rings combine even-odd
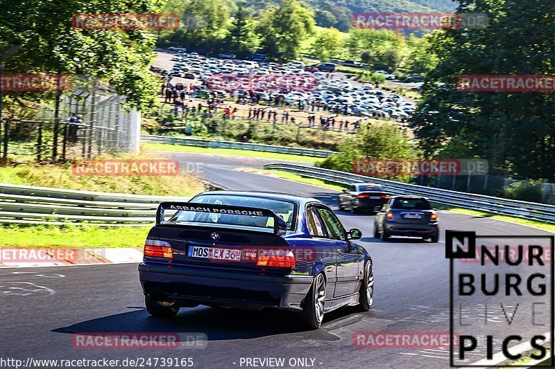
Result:
{"label": "dark blue hatchback on track, middle one of the three cars", "polygon": [[438,242],[439,226],[436,210],[428,199],[417,196],[394,196],[378,212],[374,220],[374,237],[388,240],[392,235],[416,236]]}

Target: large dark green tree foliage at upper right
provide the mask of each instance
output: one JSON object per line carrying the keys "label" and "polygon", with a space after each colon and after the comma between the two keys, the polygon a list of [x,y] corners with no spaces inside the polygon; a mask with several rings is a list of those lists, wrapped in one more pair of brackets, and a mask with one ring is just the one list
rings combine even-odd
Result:
{"label": "large dark green tree foliage at upper right", "polygon": [[492,174],[554,181],[554,94],[463,92],[456,82],[460,75],[555,74],[555,3],[459,2],[459,12],[486,12],[490,24],[483,30],[445,30],[430,37],[430,50],[439,62],[427,80],[445,85],[426,84],[413,116],[422,149],[431,156],[448,150],[453,157],[460,152],[487,159]]}

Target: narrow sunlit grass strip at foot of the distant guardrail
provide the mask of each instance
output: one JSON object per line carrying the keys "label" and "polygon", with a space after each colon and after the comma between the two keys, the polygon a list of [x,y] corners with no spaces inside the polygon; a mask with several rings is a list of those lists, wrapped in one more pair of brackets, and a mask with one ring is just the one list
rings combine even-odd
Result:
{"label": "narrow sunlit grass strip at foot of the distant guardrail", "polygon": [[145,143],[142,147],[149,151],[169,151],[169,152],[194,152],[200,154],[214,155],[235,155],[248,156],[254,158],[275,159],[276,161],[303,161],[305,163],[317,163],[323,158],[315,158],[314,156],[301,156],[293,154],[278,154],[275,152],[250,151],[237,149],[214,149],[210,147],[171,145],[167,143]]}

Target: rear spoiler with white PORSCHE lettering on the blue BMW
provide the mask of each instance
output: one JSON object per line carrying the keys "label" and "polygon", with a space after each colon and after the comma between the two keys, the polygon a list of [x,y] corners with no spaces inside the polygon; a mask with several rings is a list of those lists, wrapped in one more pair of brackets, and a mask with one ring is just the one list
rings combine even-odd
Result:
{"label": "rear spoiler with white PORSCHE lettering on the blue BMW", "polygon": [[263,208],[248,208],[246,206],[232,205],[216,205],[216,204],[200,204],[194,202],[162,202],[156,210],[156,224],[164,223],[165,210],[185,210],[195,211],[197,213],[214,213],[214,214],[232,214],[232,215],[252,215],[254,217],[272,217],[273,233],[276,235],[284,235],[287,232],[287,224],[278,217],[272,210]]}

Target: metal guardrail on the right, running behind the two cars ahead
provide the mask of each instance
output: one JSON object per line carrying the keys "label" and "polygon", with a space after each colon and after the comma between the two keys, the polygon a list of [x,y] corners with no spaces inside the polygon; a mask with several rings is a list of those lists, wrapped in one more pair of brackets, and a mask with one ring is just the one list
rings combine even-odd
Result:
{"label": "metal guardrail on the right, running behind the two cars ahead", "polygon": [[386,179],[366,177],[359,174],[340,172],[338,170],[325,168],[315,168],[305,165],[270,163],[264,165],[264,168],[284,170],[286,172],[300,174],[303,177],[323,179],[325,181],[340,184],[373,182],[383,185],[386,191],[392,195],[412,194],[425,196],[437,204],[456,206],[472,210],[482,210],[488,213],[508,215],[522,219],[532,219],[539,222],[555,223],[555,206],[547,204],[502,199],[499,197],[456,192],[452,190],[442,190],[439,188],[388,181]]}

